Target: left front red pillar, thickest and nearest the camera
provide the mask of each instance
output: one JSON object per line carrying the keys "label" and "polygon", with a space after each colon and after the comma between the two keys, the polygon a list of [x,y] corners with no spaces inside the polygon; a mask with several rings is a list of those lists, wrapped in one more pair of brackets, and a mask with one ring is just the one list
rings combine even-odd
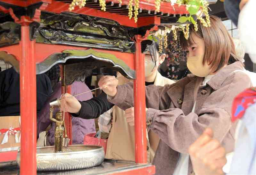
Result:
{"label": "left front red pillar, thickest and nearest the camera", "polygon": [[20,174],[36,174],[36,61],[35,41],[29,39],[29,26],[21,26],[20,51]]}

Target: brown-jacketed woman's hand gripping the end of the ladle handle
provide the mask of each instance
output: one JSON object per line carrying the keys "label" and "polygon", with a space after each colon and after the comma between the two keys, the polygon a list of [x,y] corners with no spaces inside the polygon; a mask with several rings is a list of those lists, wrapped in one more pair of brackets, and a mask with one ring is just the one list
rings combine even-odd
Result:
{"label": "brown-jacketed woman's hand gripping the end of the ladle handle", "polygon": [[[116,86],[118,84],[118,80],[115,76],[109,76],[106,75],[104,77],[100,78],[100,81],[98,83],[100,89],[102,89],[108,96],[115,97],[116,96]],[[104,86],[104,87],[102,87]]]}

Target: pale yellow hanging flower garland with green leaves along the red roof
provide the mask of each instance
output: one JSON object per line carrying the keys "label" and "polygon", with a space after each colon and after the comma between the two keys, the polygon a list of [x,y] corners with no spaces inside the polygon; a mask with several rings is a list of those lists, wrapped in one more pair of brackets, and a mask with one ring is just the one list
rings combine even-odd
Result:
{"label": "pale yellow hanging flower garland with green leaves along the red roof", "polygon": [[[196,20],[192,17],[196,16],[196,18],[203,24],[205,27],[210,27],[210,16],[208,14],[208,5],[209,3],[207,0],[155,0],[155,7],[156,7],[156,12],[160,11],[160,6],[161,3],[165,2],[170,2],[173,9],[174,9],[174,4],[180,5],[186,5],[186,10],[189,12],[189,16],[182,16],[179,18],[177,22],[180,23],[179,26],[172,26],[170,29],[169,27],[165,26],[165,32],[168,30],[172,30],[172,36],[173,40],[177,40],[177,32],[178,30],[182,31],[184,33],[185,38],[188,40],[189,38],[189,25],[192,23],[194,25],[195,31],[198,30],[198,25]],[[100,7],[102,11],[106,11],[106,1],[105,0],[99,0],[100,2]],[[122,0],[119,0],[119,3],[122,4]],[[133,16],[134,22],[136,23],[138,21],[138,14],[139,14],[139,3],[140,0],[130,0],[128,4],[128,16],[131,19]],[[73,0],[72,3],[69,5],[68,10],[72,11],[75,9],[75,6],[78,6],[79,8],[84,7],[86,4],[86,0]],[[175,9],[174,9],[175,10]],[[134,11],[134,12],[133,12]],[[203,18],[203,15],[205,16],[205,19]],[[182,23],[187,23],[188,24],[182,24]],[[166,33],[164,35],[158,34],[158,38],[160,41],[164,37],[164,48],[167,47],[167,35]],[[148,36],[149,40],[153,40],[153,36]],[[162,42],[159,43],[159,51],[162,52],[163,50],[163,44]]]}

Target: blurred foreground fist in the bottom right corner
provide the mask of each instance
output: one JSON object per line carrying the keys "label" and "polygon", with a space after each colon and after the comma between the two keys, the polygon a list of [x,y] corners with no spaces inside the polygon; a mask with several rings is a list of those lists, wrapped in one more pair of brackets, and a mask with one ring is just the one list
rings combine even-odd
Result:
{"label": "blurred foreground fist in the bottom right corner", "polygon": [[222,168],[227,163],[226,151],[220,142],[212,137],[212,129],[206,128],[189,147],[189,155],[196,175],[224,174]]}

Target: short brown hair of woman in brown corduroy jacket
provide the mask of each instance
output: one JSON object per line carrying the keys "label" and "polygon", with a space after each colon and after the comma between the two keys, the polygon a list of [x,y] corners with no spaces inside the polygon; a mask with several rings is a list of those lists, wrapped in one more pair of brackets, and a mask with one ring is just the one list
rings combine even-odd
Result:
{"label": "short brown hair of woman in brown corduroy jacket", "polygon": [[[204,18],[205,19],[205,18]],[[213,72],[218,71],[224,65],[238,61],[235,52],[235,45],[232,37],[228,33],[220,18],[210,16],[211,27],[204,27],[201,22],[197,22],[198,30],[195,31],[194,25],[189,25],[189,38],[185,39],[183,32],[180,32],[180,45],[183,49],[193,43],[191,34],[204,40],[204,59],[211,65]]]}

